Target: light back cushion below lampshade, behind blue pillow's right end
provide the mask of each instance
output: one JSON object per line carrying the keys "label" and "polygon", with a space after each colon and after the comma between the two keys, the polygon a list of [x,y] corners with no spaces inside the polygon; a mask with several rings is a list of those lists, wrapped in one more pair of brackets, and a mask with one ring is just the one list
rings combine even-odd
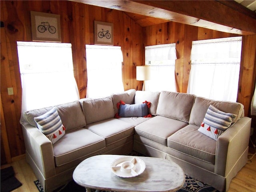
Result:
{"label": "light back cushion below lampshade, behind blue pillow's right end", "polygon": [[151,103],[148,113],[156,115],[156,108],[158,104],[160,92],[151,92],[151,91],[136,91],[135,93],[135,104],[139,104],[145,101]]}

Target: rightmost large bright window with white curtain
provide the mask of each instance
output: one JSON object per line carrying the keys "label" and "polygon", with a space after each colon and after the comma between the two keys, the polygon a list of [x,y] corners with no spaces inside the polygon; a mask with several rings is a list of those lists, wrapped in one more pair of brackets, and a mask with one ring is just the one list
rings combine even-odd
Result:
{"label": "rightmost large bright window with white curtain", "polygon": [[187,93],[236,102],[242,37],[192,42]]}

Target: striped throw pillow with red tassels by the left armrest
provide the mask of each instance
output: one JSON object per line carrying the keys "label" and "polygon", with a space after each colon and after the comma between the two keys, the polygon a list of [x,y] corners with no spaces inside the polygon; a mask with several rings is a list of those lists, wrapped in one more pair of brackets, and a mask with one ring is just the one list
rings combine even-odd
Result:
{"label": "striped throw pillow with red tassels by the left armrest", "polygon": [[65,134],[65,127],[62,124],[56,108],[52,108],[45,114],[35,117],[34,120],[39,130],[52,142],[56,143]]}

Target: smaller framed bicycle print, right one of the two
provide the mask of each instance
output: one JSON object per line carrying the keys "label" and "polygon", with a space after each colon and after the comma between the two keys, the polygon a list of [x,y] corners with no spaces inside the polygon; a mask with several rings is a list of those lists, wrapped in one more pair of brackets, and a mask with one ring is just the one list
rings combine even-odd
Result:
{"label": "smaller framed bicycle print, right one of the two", "polygon": [[114,45],[112,23],[94,21],[94,44]]}

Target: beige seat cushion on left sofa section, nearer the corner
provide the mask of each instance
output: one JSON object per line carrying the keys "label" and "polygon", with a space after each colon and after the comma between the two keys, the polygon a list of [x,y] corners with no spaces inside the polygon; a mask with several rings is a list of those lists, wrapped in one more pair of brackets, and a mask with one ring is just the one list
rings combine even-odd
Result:
{"label": "beige seat cushion on left sofa section, nearer the corner", "polygon": [[106,146],[134,134],[134,126],[128,122],[110,118],[87,125],[88,130],[105,138]]}

